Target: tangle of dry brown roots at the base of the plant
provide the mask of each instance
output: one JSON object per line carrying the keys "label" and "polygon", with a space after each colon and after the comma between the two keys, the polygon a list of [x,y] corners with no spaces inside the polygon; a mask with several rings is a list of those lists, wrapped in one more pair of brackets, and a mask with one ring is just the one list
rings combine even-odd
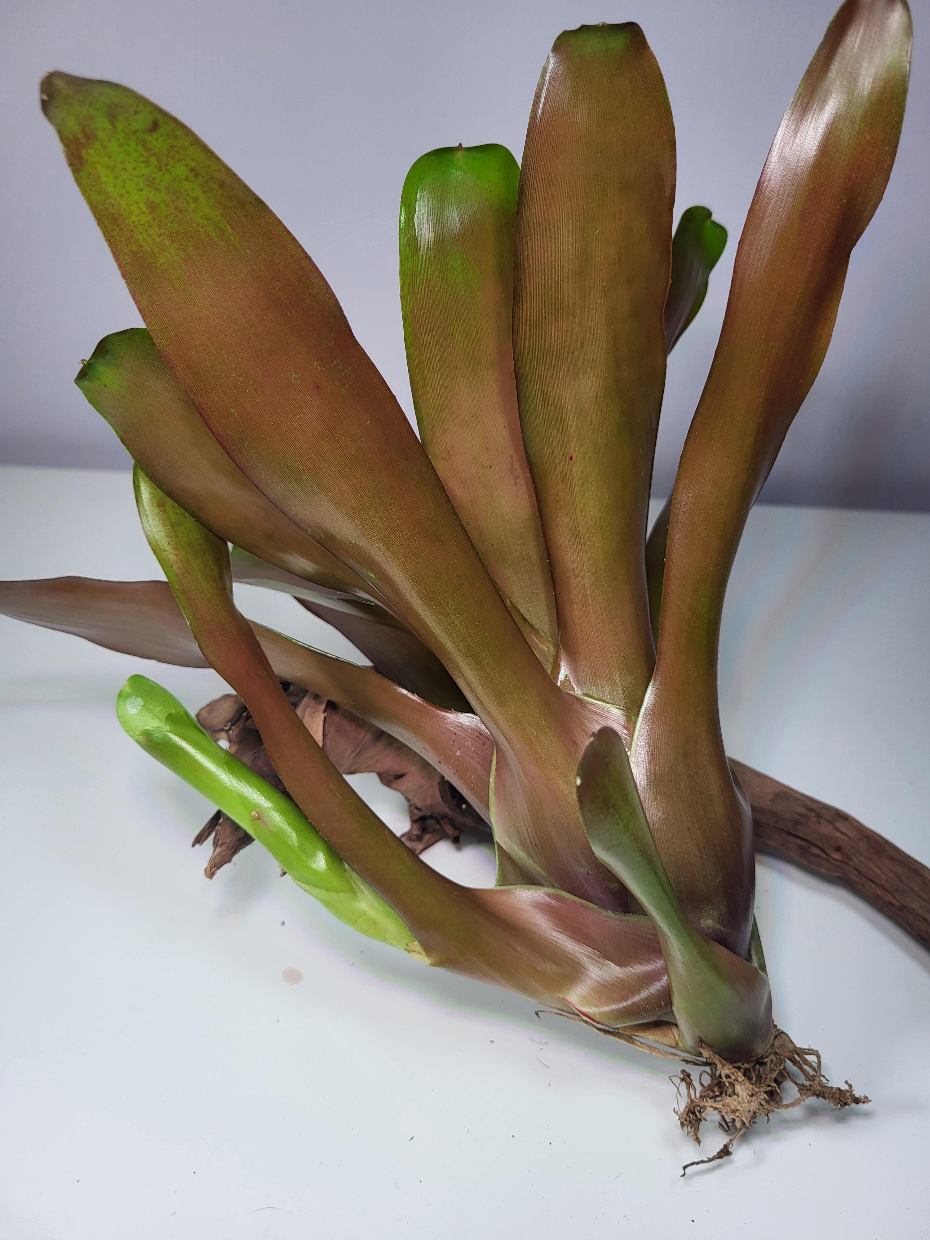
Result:
{"label": "tangle of dry brown roots at the base of the plant", "polygon": [[[779,1028],[763,1054],[751,1063],[729,1064],[704,1045],[701,1052],[707,1059],[707,1066],[698,1073],[697,1081],[687,1069],[671,1078],[677,1086],[678,1100],[681,1101],[682,1094],[684,1096],[684,1105],[676,1109],[675,1114],[682,1130],[701,1145],[701,1125],[715,1112],[727,1140],[717,1153],[686,1163],[682,1176],[688,1167],[702,1167],[729,1158],[734,1142],[758,1118],[764,1116],[768,1120],[773,1111],[789,1111],[810,1097],[821,1097],[837,1109],[861,1106],[869,1101],[868,1097],[854,1094],[849,1081],[844,1089],[831,1085],[823,1075],[820,1052],[811,1047],[796,1047]],[[790,1101],[781,1096],[781,1087],[787,1084],[794,1085],[797,1091],[797,1096]]]}

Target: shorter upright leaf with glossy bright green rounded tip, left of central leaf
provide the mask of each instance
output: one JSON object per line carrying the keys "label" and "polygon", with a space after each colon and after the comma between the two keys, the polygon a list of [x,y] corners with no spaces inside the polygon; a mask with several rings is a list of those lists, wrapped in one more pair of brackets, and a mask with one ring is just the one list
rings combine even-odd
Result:
{"label": "shorter upright leaf with glossy bright green rounded tip, left of central leaf", "polygon": [[513,378],[505,146],[423,155],[401,196],[401,306],[423,446],[487,570],[556,655],[556,600]]}

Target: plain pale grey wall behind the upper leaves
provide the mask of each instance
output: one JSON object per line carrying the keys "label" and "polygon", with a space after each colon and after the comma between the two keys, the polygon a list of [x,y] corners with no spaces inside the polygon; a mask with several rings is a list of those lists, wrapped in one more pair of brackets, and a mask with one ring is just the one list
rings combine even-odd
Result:
{"label": "plain pale grey wall behind the upper leaves", "polygon": [[[125,467],[72,379],[139,316],[37,100],[42,73],[114,78],[181,117],[278,212],[410,410],[397,205],[423,151],[520,156],[546,53],[583,21],[636,20],[678,135],[678,210],[730,229],[670,365],[656,494],[707,373],[735,239],[836,0],[6,0],[0,16],[0,461]],[[898,165],[859,243],[823,371],[766,498],[930,508],[930,0],[911,0]]]}

